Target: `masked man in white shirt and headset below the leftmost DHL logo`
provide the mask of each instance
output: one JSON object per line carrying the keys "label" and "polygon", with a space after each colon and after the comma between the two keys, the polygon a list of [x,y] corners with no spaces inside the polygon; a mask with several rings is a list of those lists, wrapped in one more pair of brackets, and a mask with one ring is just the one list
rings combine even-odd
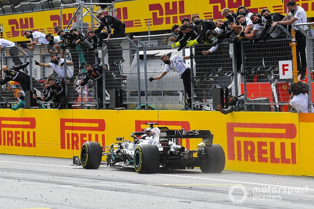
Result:
{"label": "masked man in white shirt and headset below the leftmost DHL logo", "polygon": [[30,39],[30,43],[21,43],[20,46],[24,49],[34,51],[36,44],[48,44],[46,35],[39,31],[24,30],[24,37]]}

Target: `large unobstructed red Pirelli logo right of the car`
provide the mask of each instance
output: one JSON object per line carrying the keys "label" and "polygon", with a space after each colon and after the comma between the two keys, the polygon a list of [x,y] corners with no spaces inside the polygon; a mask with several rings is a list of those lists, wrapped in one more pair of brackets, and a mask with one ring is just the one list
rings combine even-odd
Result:
{"label": "large unobstructed red Pirelli logo right of the car", "polygon": [[[291,142],[295,137],[293,123],[227,123],[228,159],[237,157],[238,161],[256,162],[257,158],[257,162],[296,164],[295,143]],[[283,142],[283,139],[289,140]],[[287,147],[291,150],[290,156],[287,156]]]}

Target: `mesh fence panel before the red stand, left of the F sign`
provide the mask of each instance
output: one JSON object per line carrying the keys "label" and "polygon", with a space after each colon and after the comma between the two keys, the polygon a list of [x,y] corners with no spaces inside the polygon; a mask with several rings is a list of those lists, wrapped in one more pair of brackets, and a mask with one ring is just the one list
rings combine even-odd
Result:
{"label": "mesh fence panel before the red stand, left of the F sign", "polygon": [[[242,40],[243,93],[245,104],[274,105],[275,111],[288,111],[290,80],[279,79],[279,61],[292,60],[291,35],[277,27],[266,41]],[[285,105],[285,106],[284,106]]]}

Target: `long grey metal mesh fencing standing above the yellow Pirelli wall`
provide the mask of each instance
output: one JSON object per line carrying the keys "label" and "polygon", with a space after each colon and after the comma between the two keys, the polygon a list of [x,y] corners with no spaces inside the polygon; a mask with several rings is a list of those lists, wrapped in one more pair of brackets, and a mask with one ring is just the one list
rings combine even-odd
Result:
{"label": "long grey metal mesh fencing standing above the yellow Pirelli wall", "polygon": [[[311,73],[314,69],[314,38],[308,32],[308,73]],[[187,95],[180,74],[169,71],[160,80],[150,82],[149,78],[165,70],[161,55],[172,57],[193,54],[193,59],[184,60],[192,72],[192,109],[212,107],[213,89],[225,88],[231,95],[244,93],[246,98],[253,99],[246,101],[246,105],[267,104],[274,105],[276,111],[288,111],[286,104],[290,81],[278,77],[278,61],[292,59],[290,33],[283,27],[278,28],[277,33],[266,41],[251,44],[248,40],[241,40],[243,77],[237,72],[234,44],[220,43],[215,50],[205,44],[177,50],[171,48],[169,37],[171,34],[134,36],[133,40],[128,37],[109,41],[104,39],[101,47],[90,52],[86,50],[95,43],[88,40],[67,50],[54,49],[46,44],[36,45],[33,51],[17,46],[4,48],[3,65],[10,68],[14,64],[30,61],[24,71],[30,75],[31,89],[36,89],[37,97],[45,95],[42,84],[49,77],[61,79],[68,108],[112,108],[110,94],[113,92],[112,97],[117,97],[117,107],[183,109],[187,108],[184,106]],[[209,49],[211,52],[204,55],[203,51]],[[52,67],[51,55],[54,54],[64,59],[63,75]],[[36,65],[35,61],[41,64]],[[87,79],[86,84],[81,86],[80,82],[88,75],[85,65],[97,63],[104,66],[104,76],[98,80]],[[0,102],[17,102],[15,93],[18,90],[21,90],[21,86],[16,82],[5,84],[0,92],[3,97]],[[46,106],[49,107],[50,103],[53,101]]]}

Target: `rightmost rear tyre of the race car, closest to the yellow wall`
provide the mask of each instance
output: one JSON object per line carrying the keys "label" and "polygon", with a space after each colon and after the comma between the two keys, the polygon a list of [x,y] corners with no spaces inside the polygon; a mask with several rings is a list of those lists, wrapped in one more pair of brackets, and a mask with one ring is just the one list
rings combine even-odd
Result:
{"label": "rightmost rear tyre of the race car, closest to the yellow wall", "polygon": [[205,156],[203,160],[206,163],[200,165],[203,173],[220,173],[225,168],[225,152],[219,144],[213,144],[212,147],[205,147]]}

